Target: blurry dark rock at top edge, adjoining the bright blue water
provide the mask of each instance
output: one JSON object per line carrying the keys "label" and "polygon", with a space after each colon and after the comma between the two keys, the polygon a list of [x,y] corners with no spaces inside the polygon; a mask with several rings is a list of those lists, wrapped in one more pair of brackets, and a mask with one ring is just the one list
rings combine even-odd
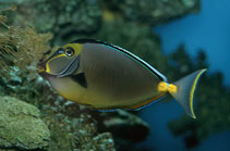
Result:
{"label": "blurry dark rock at top edge, adjoining the bright blue water", "polygon": [[128,21],[156,25],[199,11],[199,0],[102,0]]}

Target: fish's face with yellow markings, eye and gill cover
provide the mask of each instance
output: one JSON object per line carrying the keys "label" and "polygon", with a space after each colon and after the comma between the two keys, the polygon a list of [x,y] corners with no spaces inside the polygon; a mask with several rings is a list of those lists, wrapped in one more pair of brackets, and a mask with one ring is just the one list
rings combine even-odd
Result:
{"label": "fish's face with yellow markings, eye and gill cover", "polygon": [[59,48],[47,61],[46,73],[58,77],[74,73],[80,65],[81,43],[69,43]]}

